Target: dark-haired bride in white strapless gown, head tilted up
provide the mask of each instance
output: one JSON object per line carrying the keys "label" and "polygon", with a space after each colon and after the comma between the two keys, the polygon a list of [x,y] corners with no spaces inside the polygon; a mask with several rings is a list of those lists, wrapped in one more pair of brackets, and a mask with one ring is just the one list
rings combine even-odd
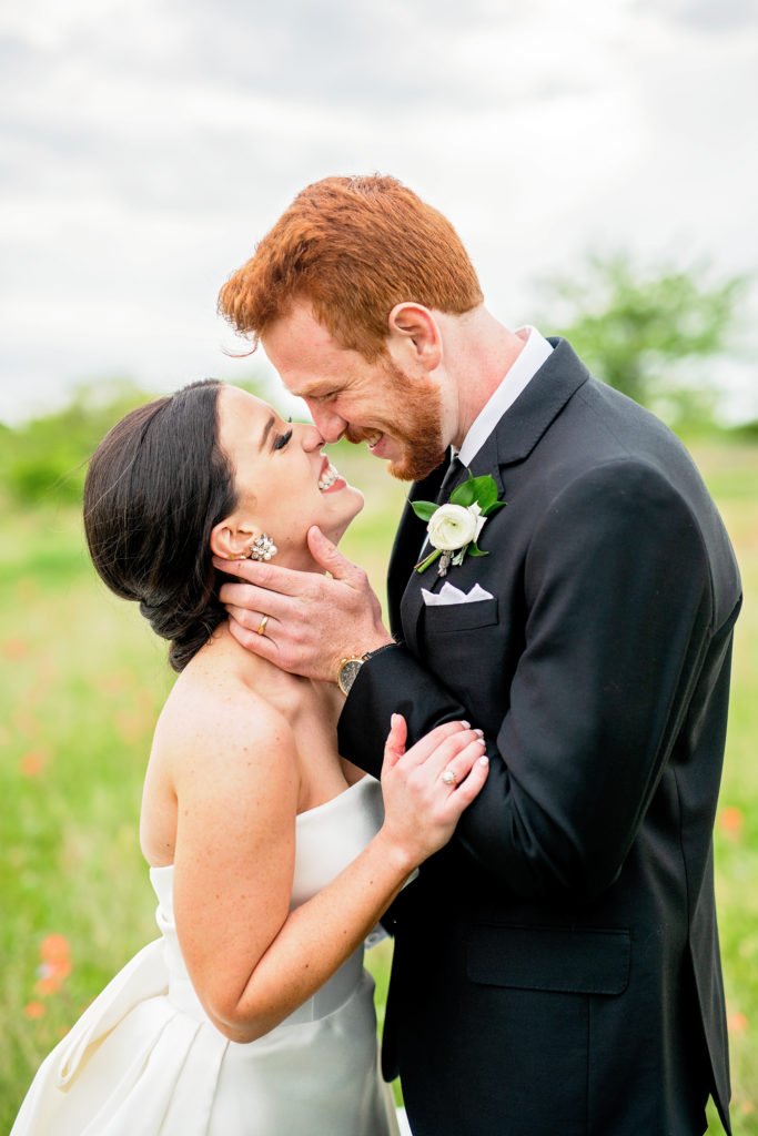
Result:
{"label": "dark-haired bride in white strapless gown, head tilted up", "polygon": [[405,752],[394,715],[380,788],[336,752],[338,687],[231,635],[213,554],[319,571],[308,528],[336,541],[363,506],[322,445],[208,381],[132,411],[92,459],[94,566],[181,673],[140,826],[160,938],[47,1058],[11,1136],[397,1131],[363,942],[450,838],[486,758],[467,722]]}

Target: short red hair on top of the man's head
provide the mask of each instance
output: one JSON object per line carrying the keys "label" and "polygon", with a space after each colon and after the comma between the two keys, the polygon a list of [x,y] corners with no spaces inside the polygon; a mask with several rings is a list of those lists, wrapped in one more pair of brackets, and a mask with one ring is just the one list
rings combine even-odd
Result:
{"label": "short red hair on top of the man's head", "polygon": [[257,344],[295,299],[310,301],[343,348],[373,360],[385,351],[397,303],[461,315],[482,291],[450,222],[377,174],[302,190],[223,286],[218,309]]}

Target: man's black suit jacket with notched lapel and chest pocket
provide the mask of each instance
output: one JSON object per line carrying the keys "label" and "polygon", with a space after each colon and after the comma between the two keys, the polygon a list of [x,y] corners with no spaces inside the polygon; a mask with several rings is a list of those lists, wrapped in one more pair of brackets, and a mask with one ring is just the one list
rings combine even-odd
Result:
{"label": "man's black suit jacket with notched lapel and chest pocket", "polygon": [[[565,341],[472,465],[507,506],[424,607],[408,507],[389,575],[401,642],[369,660],[340,744],[377,775],[468,718],[490,775],[393,909],[384,1038],[415,1136],[728,1130],[711,834],[740,580],[683,446]],[[443,470],[414,486],[434,500]]]}

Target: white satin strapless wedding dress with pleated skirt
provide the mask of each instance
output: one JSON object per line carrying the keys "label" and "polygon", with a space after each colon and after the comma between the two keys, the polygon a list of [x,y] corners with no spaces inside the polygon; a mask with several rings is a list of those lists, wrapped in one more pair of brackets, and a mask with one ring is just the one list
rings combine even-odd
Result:
{"label": "white satin strapless wedding dress with pleated skirt", "polygon": [[[297,820],[291,908],[382,822],[370,777]],[[180,951],[174,869],[152,868],[161,937],[128,962],[40,1068],[11,1136],[394,1136],[363,949],[248,1044],[211,1025]]]}

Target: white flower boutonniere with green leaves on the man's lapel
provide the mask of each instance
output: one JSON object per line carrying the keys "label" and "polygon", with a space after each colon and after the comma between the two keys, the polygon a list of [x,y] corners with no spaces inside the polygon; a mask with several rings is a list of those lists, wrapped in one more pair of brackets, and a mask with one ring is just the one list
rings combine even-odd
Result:
{"label": "white flower boutonniere with green leaves on the man's lapel", "polygon": [[438,573],[447,576],[450,565],[463,563],[467,552],[473,557],[489,556],[476,542],[490,513],[505,503],[498,501],[498,486],[489,474],[485,477],[473,477],[470,470],[468,481],[452,491],[447,504],[413,501],[416,516],[428,521],[426,532],[434,549],[434,552],[416,565],[416,571],[424,571],[440,558]]}

